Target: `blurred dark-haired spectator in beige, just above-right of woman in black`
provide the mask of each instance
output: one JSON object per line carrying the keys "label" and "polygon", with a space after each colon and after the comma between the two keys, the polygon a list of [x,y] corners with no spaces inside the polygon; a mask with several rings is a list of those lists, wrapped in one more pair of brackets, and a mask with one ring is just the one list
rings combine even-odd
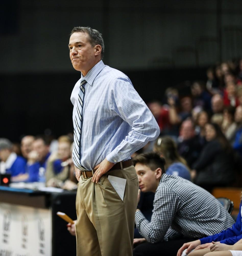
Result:
{"label": "blurred dark-haired spectator in beige, just above-right of woman in black", "polygon": [[236,123],[234,121],[234,115],[235,115],[235,108],[232,106],[227,106],[224,109],[223,114],[223,122],[222,122],[222,132],[224,133],[225,137],[229,142],[231,142],[231,139],[234,136],[234,133],[236,131]]}

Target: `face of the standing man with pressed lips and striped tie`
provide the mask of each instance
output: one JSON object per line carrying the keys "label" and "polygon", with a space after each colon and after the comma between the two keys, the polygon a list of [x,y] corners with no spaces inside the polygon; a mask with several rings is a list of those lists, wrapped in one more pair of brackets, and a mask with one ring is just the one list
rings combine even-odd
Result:
{"label": "face of the standing man with pressed lips and striped tie", "polygon": [[90,44],[89,35],[75,32],[69,40],[70,59],[74,69],[86,73],[95,65],[95,47]]}

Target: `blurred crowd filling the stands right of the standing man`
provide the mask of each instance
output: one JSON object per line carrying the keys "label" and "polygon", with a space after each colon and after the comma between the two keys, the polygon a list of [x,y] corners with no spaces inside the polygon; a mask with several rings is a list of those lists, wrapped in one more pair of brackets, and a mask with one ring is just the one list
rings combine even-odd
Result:
{"label": "blurred crowd filling the stands right of the standing man", "polygon": [[165,97],[148,103],[161,134],[140,152],[158,152],[166,172],[176,163],[173,171],[184,177],[179,173],[183,165],[190,179],[208,191],[240,186],[242,60],[210,67],[207,81],[194,81],[187,95],[183,90],[169,87]]}

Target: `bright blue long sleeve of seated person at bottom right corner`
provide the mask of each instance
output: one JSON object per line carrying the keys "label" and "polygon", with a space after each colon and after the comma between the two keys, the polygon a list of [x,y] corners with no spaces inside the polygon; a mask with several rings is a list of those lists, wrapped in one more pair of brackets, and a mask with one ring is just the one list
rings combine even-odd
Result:
{"label": "bright blue long sleeve of seated person at bottom right corner", "polygon": [[215,234],[213,236],[201,238],[200,239],[201,244],[211,243],[212,241],[214,241],[214,242],[220,241],[220,243],[233,245],[237,241],[239,241],[242,238],[241,204],[242,204],[242,201],[240,202],[239,214],[237,216],[237,219],[236,219],[236,222],[234,223],[234,225],[231,228],[228,228],[227,230],[223,230],[222,232]]}

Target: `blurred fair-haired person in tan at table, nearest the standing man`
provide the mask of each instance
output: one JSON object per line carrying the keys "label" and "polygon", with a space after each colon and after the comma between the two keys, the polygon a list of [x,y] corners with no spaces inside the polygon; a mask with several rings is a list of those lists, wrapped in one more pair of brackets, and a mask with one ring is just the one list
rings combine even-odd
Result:
{"label": "blurred fair-haired person in tan at table, nearest the standing man", "polygon": [[69,169],[73,166],[71,144],[72,140],[68,136],[58,138],[58,151],[53,152],[47,161],[45,174],[47,186],[56,187],[58,184],[60,187],[69,178]]}

